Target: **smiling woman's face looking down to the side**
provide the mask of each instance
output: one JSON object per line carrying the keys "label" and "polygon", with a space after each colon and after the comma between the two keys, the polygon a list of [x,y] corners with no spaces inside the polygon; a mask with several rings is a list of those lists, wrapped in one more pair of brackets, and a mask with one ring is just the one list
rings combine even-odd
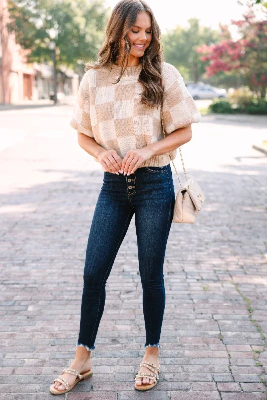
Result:
{"label": "smiling woman's face looking down to the side", "polygon": [[132,44],[130,54],[142,57],[152,39],[151,17],[146,11],[138,12],[135,23],[127,35]]}

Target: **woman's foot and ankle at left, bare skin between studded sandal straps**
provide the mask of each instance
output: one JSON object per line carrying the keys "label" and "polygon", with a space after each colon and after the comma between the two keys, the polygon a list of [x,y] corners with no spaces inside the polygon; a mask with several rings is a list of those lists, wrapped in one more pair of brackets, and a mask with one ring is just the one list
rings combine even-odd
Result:
{"label": "woman's foot and ankle at left, bare skin between studded sandal straps", "polygon": [[[80,373],[89,371],[89,369],[92,368],[91,351],[88,351],[85,347],[78,346],[76,356],[72,361],[71,365],[69,366],[69,368],[76,369]],[[60,377],[65,378],[70,386],[77,379],[77,376],[71,373],[63,373],[62,375],[60,375]],[[66,389],[64,384],[61,384],[58,381],[54,383],[54,386],[58,390]]]}

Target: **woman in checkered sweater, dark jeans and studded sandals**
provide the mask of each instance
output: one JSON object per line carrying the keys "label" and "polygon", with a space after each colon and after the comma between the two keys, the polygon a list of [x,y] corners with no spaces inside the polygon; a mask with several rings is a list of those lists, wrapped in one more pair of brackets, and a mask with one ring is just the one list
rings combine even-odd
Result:
{"label": "woman in checkered sweater, dark jeans and studded sandals", "polygon": [[[91,350],[105,304],[105,284],[133,214],[138,244],[145,353],[135,388],[157,383],[165,307],[163,262],[175,201],[169,152],[191,139],[201,116],[177,69],[163,61],[160,29],[143,0],[121,0],[105,42],[80,83],[71,125],[80,146],[104,170],[84,268],[80,332],[71,369],[54,394],[92,374]],[[166,137],[163,137],[160,104]]]}

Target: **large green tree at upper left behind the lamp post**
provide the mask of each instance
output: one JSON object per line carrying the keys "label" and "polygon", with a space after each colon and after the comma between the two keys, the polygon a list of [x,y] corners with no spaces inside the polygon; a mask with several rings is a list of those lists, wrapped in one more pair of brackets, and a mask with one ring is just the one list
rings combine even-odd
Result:
{"label": "large green tree at upper left behind the lamp post", "polygon": [[57,64],[76,67],[92,60],[101,45],[108,9],[102,0],[11,0],[9,30],[29,49],[28,61],[51,59],[48,44],[56,33]]}

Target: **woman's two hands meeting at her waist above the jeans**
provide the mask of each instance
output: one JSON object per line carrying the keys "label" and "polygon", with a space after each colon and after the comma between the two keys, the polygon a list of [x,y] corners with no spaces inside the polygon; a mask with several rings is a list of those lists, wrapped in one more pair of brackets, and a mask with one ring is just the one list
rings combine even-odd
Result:
{"label": "woman's two hands meeting at her waist above the jeans", "polygon": [[123,159],[114,149],[104,150],[98,155],[98,161],[108,172],[130,175],[153,155],[152,149],[146,147],[128,150]]}

